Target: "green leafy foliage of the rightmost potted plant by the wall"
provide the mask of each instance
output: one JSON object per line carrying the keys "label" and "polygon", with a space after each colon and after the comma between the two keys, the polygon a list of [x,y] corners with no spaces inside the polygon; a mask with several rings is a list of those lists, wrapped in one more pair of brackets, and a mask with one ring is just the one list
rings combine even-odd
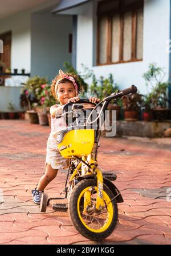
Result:
{"label": "green leafy foliage of the rightmost potted plant by the wall", "polygon": [[168,103],[168,88],[170,82],[164,82],[165,72],[156,63],[150,63],[149,69],[143,74],[148,94],[145,95],[150,109],[165,109]]}

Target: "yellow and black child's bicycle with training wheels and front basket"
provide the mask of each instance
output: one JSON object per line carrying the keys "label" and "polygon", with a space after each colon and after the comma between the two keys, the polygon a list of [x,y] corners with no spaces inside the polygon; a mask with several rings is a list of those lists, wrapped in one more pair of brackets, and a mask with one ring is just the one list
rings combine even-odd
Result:
{"label": "yellow and black child's bicycle with training wheels and front basket", "polygon": [[[71,222],[84,237],[93,241],[107,238],[115,229],[118,219],[117,203],[123,202],[120,191],[112,183],[116,174],[101,172],[97,163],[100,146],[101,119],[112,99],[136,93],[136,86],[112,93],[99,103],[80,99],[63,106],[66,129],[56,132],[56,145],[64,158],[70,159],[63,198],[48,198],[42,194],[40,211],[54,199],[68,199],[67,203],[54,203],[55,211],[67,211]],[[91,104],[91,106],[89,106]],[[86,107],[87,105],[87,107]],[[89,114],[86,114],[89,111]],[[97,113],[93,119],[93,113]],[[103,120],[104,121],[104,120]]]}

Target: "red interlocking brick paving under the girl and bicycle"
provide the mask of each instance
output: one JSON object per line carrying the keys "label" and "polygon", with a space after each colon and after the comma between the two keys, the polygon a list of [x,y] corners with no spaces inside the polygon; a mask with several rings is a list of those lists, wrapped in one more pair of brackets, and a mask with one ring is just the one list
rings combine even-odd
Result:
{"label": "red interlocking brick paving under the girl and bicycle", "polygon": [[[31,189],[44,173],[50,128],[22,120],[0,120],[0,244],[98,244],[82,237],[68,213],[49,206],[39,213]],[[119,221],[104,244],[171,244],[171,139],[162,144],[126,138],[101,138],[99,164],[115,170],[124,203]],[[60,171],[46,189],[59,196],[65,174]]]}

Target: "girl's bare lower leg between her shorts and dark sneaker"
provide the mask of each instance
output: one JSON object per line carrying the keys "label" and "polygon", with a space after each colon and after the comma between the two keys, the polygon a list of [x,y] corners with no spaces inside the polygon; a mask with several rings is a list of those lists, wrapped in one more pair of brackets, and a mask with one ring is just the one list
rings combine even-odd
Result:
{"label": "girl's bare lower leg between her shorts and dark sneaker", "polygon": [[40,178],[36,190],[44,191],[45,187],[56,177],[57,173],[58,170],[53,169],[51,165],[47,164],[45,174]]}

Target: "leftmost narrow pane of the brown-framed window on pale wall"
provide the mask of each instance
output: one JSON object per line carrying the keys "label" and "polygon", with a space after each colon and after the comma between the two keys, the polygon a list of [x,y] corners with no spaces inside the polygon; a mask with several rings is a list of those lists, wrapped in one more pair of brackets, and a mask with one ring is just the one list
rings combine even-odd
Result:
{"label": "leftmost narrow pane of the brown-framed window on pale wall", "polygon": [[104,64],[107,62],[107,26],[108,19],[101,18],[100,19],[100,64]]}

